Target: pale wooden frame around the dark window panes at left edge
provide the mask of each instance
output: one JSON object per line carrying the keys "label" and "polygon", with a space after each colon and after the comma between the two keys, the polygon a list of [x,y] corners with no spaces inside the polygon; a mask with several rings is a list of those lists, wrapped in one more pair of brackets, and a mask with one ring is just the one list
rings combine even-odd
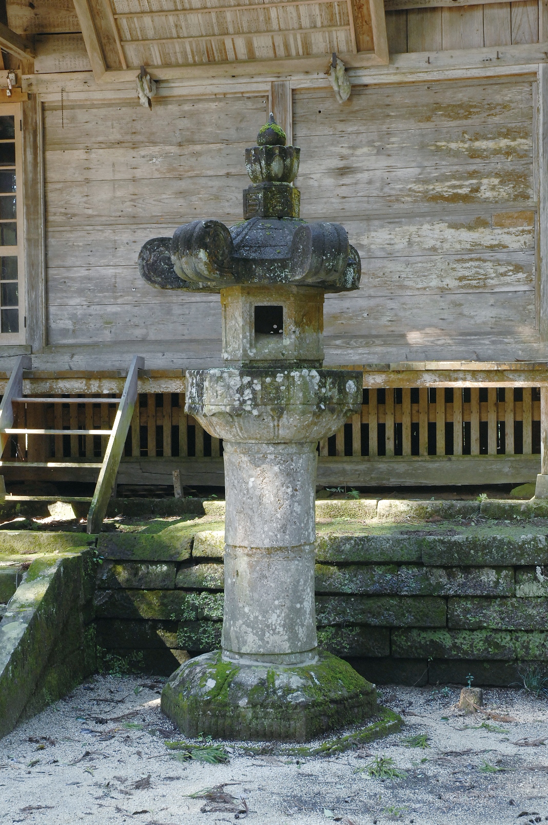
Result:
{"label": "pale wooden frame around the dark window panes at left edge", "polygon": [[[0,105],[0,115],[13,115],[15,126],[15,180],[16,180],[16,222],[17,222],[17,246],[0,246],[0,257],[17,255],[17,286],[18,286],[18,310],[19,310],[19,332],[2,332],[0,328],[0,347],[12,346],[13,344],[26,343],[26,307],[25,307],[25,243],[24,243],[24,207],[23,207],[23,146],[22,146],[22,113],[21,103],[2,103]],[[19,126],[19,128],[17,128]],[[3,143],[4,141],[0,141]],[[9,143],[9,140],[5,141]],[[0,167],[0,172],[5,167]]]}

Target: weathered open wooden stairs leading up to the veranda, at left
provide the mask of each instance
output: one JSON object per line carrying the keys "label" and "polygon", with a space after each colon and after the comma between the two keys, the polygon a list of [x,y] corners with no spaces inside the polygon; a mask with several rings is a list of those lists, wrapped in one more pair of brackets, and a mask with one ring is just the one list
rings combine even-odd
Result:
{"label": "weathered open wooden stairs leading up to the veranda, at left", "polygon": [[[101,530],[102,521],[106,515],[106,507],[110,501],[112,492],[116,484],[116,474],[120,465],[120,459],[124,453],[125,439],[130,429],[131,417],[135,408],[137,400],[137,379],[139,369],[144,368],[144,359],[140,356],[134,356],[130,370],[128,371],[125,380],[124,390],[121,398],[55,398],[50,396],[48,398],[37,398],[30,395],[23,395],[23,370],[31,369],[31,357],[20,356],[17,364],[12,370],[12,375],[7,382],[7,387],[0,403],[0,455],[2,455],[4,447],[10,436],[108,436],[108,444],[106,446],[105,455],[102,462],[92,463],[86,461],[85,463],[78,462],[55,462],[55,467],[63,466],[71,469],[99,469],[99,478],[93,493],[89,512],[87,513],[87,532],[97,533]],[[58,429],[36,429],[33,427],[13,427],[16,420],[17,405],[35,403],[51,403],[59,400],[63,403],[78,403],[78,404],[116,404],[118,410],[112,425],[111,430],[103,429],[88,429],[88,430],[58,430]],[[0,461],[0,472],[2,467],[9,467],[14,464],[12,461]],[[26,467],[50,467],[52,464],[48,462],[26,462]],[[29,497],[25,497],[29,500]],[[36,497],[44,499],[44,497]],[[68,500],[65,498],[65,501]],[[74,501],[82,502],[81,497],[75,498]]]}

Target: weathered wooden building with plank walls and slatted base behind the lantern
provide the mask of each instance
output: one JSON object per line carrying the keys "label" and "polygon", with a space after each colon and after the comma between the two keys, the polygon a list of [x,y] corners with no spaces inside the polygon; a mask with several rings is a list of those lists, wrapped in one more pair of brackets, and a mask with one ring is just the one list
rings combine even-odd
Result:
{"label": "weathered wooden building with plank walls and slatted base behind the lantern", "polygon": [[[168,483],[184,465],[189,481],[222,484],[221,446],[182,412],[184,370],[221,364],[219,296],[152,290],[136,262],[179,224],[241,219],[244,149],[268,111],[301,148],[301,215],[343,223],[361,255],[359,292],[326,298],[325,349],[326,365],[365,368],[364,405],[320,446],[320,483],[535,479],[546,0],[7,0],[5,12],[0,370],[31,355],[26,392],[120,394],[143,356],[120,482]],[[343,104],[333,52],[352,81]],[[109,413],[52,400],[32,415],[73,430]],[[4,461],[85,464],[105,449],[37,438],[12,439]]]}

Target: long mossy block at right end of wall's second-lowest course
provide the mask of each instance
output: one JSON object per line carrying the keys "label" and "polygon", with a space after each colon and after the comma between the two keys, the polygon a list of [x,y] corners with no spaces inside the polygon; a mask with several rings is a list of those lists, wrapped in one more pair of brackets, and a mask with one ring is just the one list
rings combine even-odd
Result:
{"label": "long mossy block at right end of wall's second-lowest course", "polygon": [[511,630],[392,631],[395,658],[420,656],[434,659],[542,659],[548,661],[548,633]]}

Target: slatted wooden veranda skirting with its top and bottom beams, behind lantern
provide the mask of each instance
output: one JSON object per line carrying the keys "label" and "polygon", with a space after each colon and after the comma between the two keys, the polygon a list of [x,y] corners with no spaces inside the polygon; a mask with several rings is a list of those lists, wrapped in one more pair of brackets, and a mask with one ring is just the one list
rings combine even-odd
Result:
{"label": "slatted wooden veranda skirting with its top and bottom beams, behind lantern", "polygon": [[[532,481],[540,472],[541,392],[548,386],[548,365],[371,365],[363,375],[361,412],[319,443],[320,483],[363,485],[370,478],[375,484],[428,479],[434,484],[475,483],[480,480],[478,468],[488,466],[481,480],[494,483],[500,474],[501,481],[520,482]],[[139,376],[138,403],[120,467],[125,483],[132,474],[135,483],[145,483],[142,477],[149,473],[151,460],[155,483],[169,483],[177,460],[185,465],[185,483],[193,474],[195,483],[206,483],[204,467],[210,483],[211,473],[216,474],[215,483],[223,483],[222,442],[184,413],[184,380],[182,370],[144,370]],[[123,381],[116,373],[25,373],[25,394],[52,398],[21,405],[14,427],[109,430],[115,403],[67,403],[59,394],[119,398]],[[12,436],[2,459],[97,461],[107,440],[89,435]],[[442,467],[439,461],[452,464]],[[442,467],[438,474],[436,466]]]}

